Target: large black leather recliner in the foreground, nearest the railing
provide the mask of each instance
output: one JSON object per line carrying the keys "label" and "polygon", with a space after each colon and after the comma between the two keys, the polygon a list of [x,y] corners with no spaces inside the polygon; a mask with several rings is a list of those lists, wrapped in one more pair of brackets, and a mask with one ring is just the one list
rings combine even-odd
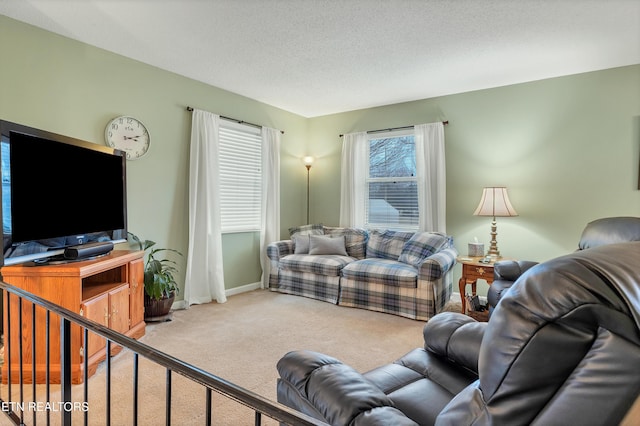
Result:
{"label": "large black leather recliner in the foreground, nearest the railing", "polygon": [[333,425],[619,424],[640,394],[639,260],[626,242],[533,266],[488,323],[438,314],[424,348],[364,374],[290,352],[278,401]]}

